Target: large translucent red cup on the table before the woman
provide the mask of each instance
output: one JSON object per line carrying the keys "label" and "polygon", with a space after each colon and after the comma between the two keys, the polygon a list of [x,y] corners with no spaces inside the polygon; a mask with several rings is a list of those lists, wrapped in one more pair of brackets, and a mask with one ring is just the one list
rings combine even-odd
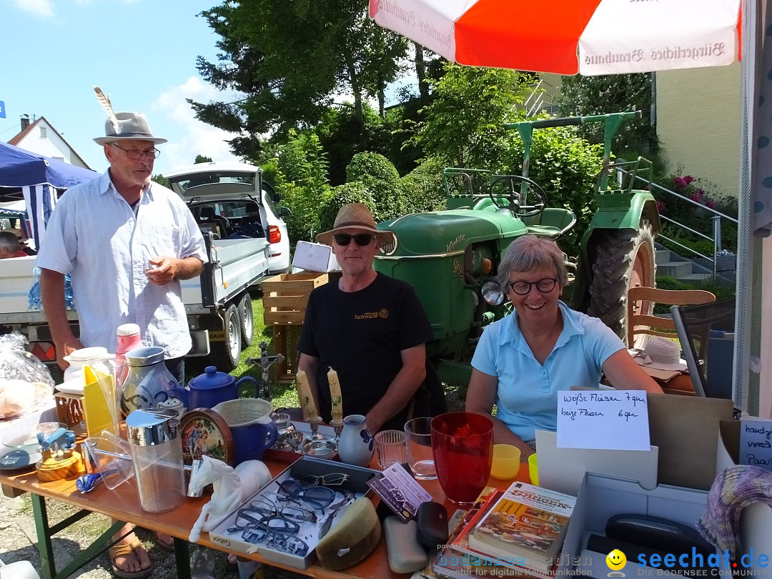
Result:
{"label": "large translucent red cup on the table before the woman", "polygon": [[445,496],[471,505],[488,484],[493,462],[493,422],[472,412],[448,412],[432,420],[432,453]]}

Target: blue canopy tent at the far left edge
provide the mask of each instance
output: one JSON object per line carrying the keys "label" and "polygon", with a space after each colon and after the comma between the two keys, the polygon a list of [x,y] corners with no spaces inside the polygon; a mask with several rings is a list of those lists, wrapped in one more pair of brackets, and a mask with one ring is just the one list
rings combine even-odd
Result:
{"label": "blue canopy tent at the far left edge", "polygon": [[[25,232],[35,239],[36,247],[40,246],[58,196],[73,185],[98,176],[90,169],[0,143],[0,201],[25,200],[26,215],[22,217],[29,218],[32,224],[32,231]],[[23,219],[22,225],[26,229]]]}

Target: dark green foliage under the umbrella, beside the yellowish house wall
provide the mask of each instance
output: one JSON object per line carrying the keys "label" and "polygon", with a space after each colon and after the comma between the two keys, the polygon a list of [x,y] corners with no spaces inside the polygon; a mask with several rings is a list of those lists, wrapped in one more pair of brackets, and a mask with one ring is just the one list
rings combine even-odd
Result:
{"label": "dark green foliage under the umbrella, beside the yellowish house wall", "polygon": [[[640,119],[622,124],[612,144],[618,156],[630,151],[657,151],[655,127],[652,127],[652,73],[608,76],[564,76],[558,99],[564,117],[642,111]],[[581,126],[580,134],[593,143],[603,142],[603,124]]]}

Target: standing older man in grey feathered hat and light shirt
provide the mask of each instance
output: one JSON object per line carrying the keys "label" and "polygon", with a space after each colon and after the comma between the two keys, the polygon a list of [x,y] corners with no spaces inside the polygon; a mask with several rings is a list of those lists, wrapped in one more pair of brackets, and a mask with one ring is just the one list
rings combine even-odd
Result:
{"label": "standing older man in grey feathered hat and light shirt", "polygon": [[[183,381],[191,348],[181,279],[198,276],[207,260],[204,239],[185,202],[151,181],[166,139],[154,137],[142,113],[109,111],[102,145],[110,168],[69,189],[49,218],[38,252],[43,310],[63,357],[81,347],[114,352],[116,330],[137,323],[147,346],[163,347],[171,373]],[[80,339],[69,327],[64,277],[72,279]],[[130,531],[130,528],[127,529]],[[123,534],[123,533],[120,533]],[[159,536],[170,548],[171,537]],[[150,560],[133,534],[110,553],[113,573],[144,577]]]}

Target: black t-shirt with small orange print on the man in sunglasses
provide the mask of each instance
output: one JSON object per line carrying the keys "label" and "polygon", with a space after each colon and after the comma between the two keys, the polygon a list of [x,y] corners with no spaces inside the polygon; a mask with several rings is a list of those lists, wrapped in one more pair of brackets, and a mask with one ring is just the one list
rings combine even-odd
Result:
{"label": "black t-shirt with small orange print on the man in sunglasses", "polygon": [[[298,350],[319,358],[321,417],[330,422],[330,367],[338,374],[344,416],[364,415],[401,370],[401,350],[433,339],[424,309],[408,283],[378,273],[358,292],[340,291],[337,283],[314,289]],[[402,428],[406,415],[407,408],[398,413],[396,428]]]}

